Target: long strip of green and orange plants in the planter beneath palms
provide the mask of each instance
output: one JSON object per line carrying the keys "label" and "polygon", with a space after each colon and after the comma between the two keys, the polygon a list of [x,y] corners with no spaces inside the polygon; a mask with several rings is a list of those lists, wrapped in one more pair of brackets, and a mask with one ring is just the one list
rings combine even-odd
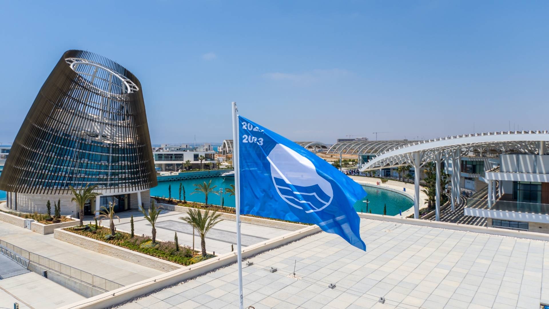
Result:
{"label": "long strip of green and orange plants in the planter beneath palms", "polygon": [[156,244],[153,245],[152,240],[147,236],[135,235],[132,238],[130,234],[119,231],[113,236],[110,234],[110,229],[99,226],[96,230],[94,224],[88,224],[88,228],[85,230],[75,228],[66,228],[65,230],[184,266],[214,257],[213,255],[207,255],[203,258],[199,252],[193,252],[189,246],[180,245],[179,251],[176,251],[175,242],[173,241],[157,240]]}

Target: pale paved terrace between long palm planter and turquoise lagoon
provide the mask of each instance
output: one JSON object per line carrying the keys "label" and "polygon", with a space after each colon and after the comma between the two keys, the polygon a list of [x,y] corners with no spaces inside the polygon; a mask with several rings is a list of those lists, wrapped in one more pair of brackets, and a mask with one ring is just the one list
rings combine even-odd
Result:
{"label": "pale paved terrace between long palm planter and turquoise lagoon", "polygon": [[[151,225],[138,211],[125,211],[118,213],[119,220],[115,220],[117,229],[130,231],[130,216],[133,215],[134,233],[136,235],[151,235]],[[180,245],[193,246],[193,228],[191,225],[183,222],[180,217],[187,217],[186,213],[164,210],[156,220],[156,238],[164,241],[173,241],[175,233]],[[89,222],[93,220],[91,216],[85,217]],[[103,221],[101,225],[107,227],[109,222]],[[257,244],[264,240],[275,238],[288,234],[289,230],[265,227],[257,224],[242,223],[240,228],[242,233],[242,246]],[[206,250],[208,252],[228,253],[231,252],[231,245],[236,250],[236,222],[232,220],[223,220],[215,225],[213,229],[206,234]],[[195,233],[194,248],[200,250],[200,236]]]}

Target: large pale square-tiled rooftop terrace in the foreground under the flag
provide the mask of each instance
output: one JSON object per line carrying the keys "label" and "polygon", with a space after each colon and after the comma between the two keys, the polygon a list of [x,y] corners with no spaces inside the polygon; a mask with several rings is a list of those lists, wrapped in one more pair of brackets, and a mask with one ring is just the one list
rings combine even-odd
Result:
{"label": "large pale square-tiled rooftop terrace in the foreground under the flag", "polygon": [[[549,302],[549,242],[368,219],[361,235],[367,252],[318,233],[250,258],[245,308],[537,309]],[[233,264],[119,308],[237,308],[237,276]]]}

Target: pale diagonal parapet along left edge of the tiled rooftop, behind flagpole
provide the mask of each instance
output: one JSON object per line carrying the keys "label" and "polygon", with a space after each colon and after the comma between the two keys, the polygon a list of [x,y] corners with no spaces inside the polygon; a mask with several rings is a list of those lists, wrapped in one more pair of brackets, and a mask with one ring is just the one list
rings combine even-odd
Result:
{"label": "pale diagonal parapet along left edge of the tiled rooftop, behind flagpole", "polygon": [[[277,238],[267,240],[266,242],[245,247],[245,249],[242,250],[242,258],[252,257],[261,252],[275,249],[276,247],[288,244],[289,242],[299,240],[312,234],[316,234],[320,231],[321,229],[317,225],[311,225],[310,227],[306,227],[298,231],[293,231],[286,235],[278,236]],[[74,304],[61,307],[60,309],[107,308],[130,300],[134,297],[151,293],[154,290],[180,283],[183,280],[197,277],[199,275],[214,271],[214,269],[225,267],[229,264],[236,262],[236,252],[226,253],[225,255],[210,258],[209,260],[202,261],[191,266],[186,266],[184,268],[178,269],[177,271],[161,274],[156,277],[143,280],[141,282],[124,286],[120,289],[109,291],[107,293],[97,295],[86,300],[75,302]]]}

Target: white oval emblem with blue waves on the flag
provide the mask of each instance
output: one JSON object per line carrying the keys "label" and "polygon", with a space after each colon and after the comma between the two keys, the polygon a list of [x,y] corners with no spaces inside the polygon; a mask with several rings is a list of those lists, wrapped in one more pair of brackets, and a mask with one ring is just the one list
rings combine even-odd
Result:
{"label": "white oval emblem with blue waves on the flag", "polygon": [[268,154],[278,195],[306,213],[321,211],[333,199],[332,185],[316,172],[315,165],[294,150],[277,144]]}

